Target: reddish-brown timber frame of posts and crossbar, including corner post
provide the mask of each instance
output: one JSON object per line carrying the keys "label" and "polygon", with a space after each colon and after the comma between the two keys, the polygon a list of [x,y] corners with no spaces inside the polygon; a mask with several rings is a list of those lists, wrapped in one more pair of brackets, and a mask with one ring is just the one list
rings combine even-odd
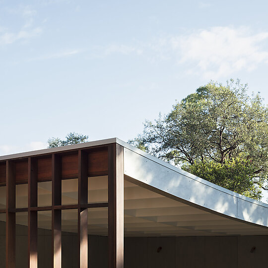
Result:
{"label": "reddish-brown timber frame of posts and crossbar, including corner post", "polygon": [[[109,268],[124,267],[123,146],[113,142],[53,148],[35,155],[0,159],[0,185],[6,186],[6,268],[15,268],[15,215],[28,212],[28,267],[37,268],[37,213],[52,211],[52,268],[62,267],[62,210],[78,211],[78,267],[88,267],[88,208],[108,207]],[[27,154],[27,153],[26,153]],[[108,175],[108,202],[88,203],[88,177]],[[78,178],[77,204],[62,204],[62,180]],[[38,206],[38,182],[52,181],[52,205]],[[28,206],[16,208],[16,184],[28,183]],[[75,250],[75,249],[74,249]]]}

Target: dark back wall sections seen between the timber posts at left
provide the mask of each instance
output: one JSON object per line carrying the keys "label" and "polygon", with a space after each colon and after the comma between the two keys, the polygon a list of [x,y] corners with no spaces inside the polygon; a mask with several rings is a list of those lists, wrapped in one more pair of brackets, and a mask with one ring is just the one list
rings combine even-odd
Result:
{"label": "dark back wall sections seen between the timber posts at left", "polygon": [[[16,225],[16,268],[28,267],[28,226]],[[38,268],[51,267],[51,230],[38,229]],[[108,238],[88,236],[90,268],[108,267]],[[78,268],[77,233],[62,233],[62,268]],[[5,264],[5,222],[0,221],[0,267]]]}

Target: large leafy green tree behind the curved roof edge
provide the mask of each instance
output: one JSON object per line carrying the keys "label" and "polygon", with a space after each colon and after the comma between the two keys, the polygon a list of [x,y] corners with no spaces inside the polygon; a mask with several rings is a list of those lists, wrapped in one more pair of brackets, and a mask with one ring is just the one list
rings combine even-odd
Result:
{"label": "large leafy green tree behind the curved roof edge", "polygon": [[209,82],[130,142],[203,179],[260,200],[268,190],[268,108],[229,80]]}

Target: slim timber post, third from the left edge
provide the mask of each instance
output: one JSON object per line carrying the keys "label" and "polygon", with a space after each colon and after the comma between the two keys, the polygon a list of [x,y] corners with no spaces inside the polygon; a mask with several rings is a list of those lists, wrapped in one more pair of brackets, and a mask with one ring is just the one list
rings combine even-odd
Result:
{"label": "slim timber post, third from the left edge", "polygon": [[52,268],[62,267],[62,164],[59,155],[52,154]]}

